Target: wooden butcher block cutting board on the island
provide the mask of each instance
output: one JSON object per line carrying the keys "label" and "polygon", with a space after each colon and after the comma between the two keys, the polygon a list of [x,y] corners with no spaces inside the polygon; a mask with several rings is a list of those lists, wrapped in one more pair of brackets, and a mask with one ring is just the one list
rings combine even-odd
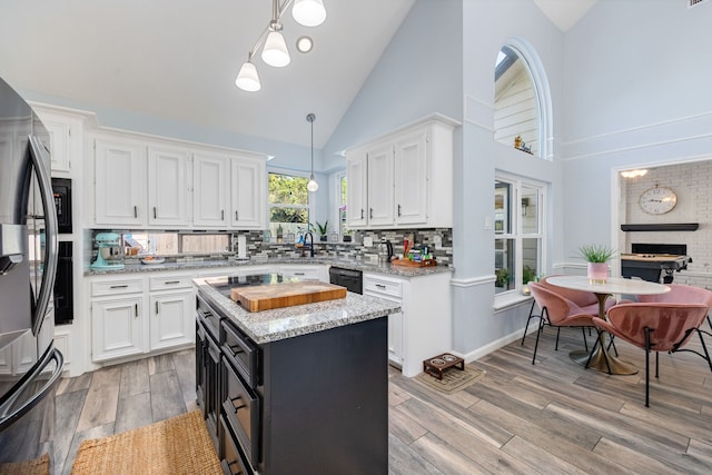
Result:
{"label": "wooden butcher block cutting board on the island", "polygon": [[346,287],[322,281],[236,287],[230,298],[248,311],[269,310],[346,297]]}

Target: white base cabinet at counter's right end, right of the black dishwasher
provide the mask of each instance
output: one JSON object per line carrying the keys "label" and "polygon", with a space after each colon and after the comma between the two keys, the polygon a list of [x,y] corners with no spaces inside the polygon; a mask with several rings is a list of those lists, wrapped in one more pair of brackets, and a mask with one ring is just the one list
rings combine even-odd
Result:
{"label": "white base cabinet at counter's right end, right of the black dishwasher", "polygon": [[404,376],[423,372],[423,360],[452,349],[449,273],[400,279],[364,274],[364,294],[400,301],[388,316],[388,359]]}

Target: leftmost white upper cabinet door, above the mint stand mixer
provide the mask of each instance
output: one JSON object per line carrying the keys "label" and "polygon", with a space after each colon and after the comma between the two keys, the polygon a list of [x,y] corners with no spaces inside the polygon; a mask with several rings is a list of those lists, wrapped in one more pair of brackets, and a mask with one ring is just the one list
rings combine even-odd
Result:
{"label": "leftmost white upper cabinet door, above the mint stand mixer", "polygon": [[97,140],[95,215],[97,225],[146,222],[146,179],[139,146]]}

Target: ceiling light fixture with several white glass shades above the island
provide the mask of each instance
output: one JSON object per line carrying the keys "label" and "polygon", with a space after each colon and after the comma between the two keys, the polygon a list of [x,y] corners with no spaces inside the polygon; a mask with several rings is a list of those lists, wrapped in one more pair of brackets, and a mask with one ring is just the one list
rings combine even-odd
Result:
{"label": "ceiling light fixture with several white glass shades above the island", "polygon": [[[273,0],[271,3],[271,20],[267,28],[257,38],[255,46],[247,55],[247,61],[240,67],[240,71],[235,79],[235,85],[248,92],[256,92],[261,89],[259,81],[259,75],[257,68],[253,62],[257,50],[264,42],[261,58],[265,63],[275,67],[284,68],[289,65],[290,57],[289,50],[285,38],[281,36],[281,16],[294,3],[291,8],[291,16],[297,23],[305,27],[318,27],[326,20],[326,9],[324,8],[323,0],[285,0],[280,6],[279,0]],[[308,40],[308,41],[307,41]],[[308,37],[300,37],[298,39],[298,49],[300,52],[308,52],[312,49],[312,39]],[[308,48],[303,44],[308,43]]]}

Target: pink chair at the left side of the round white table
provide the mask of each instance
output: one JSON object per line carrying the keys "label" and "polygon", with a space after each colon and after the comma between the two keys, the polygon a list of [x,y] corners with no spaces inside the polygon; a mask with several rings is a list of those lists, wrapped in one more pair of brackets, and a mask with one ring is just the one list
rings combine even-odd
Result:
{"label": "pink chair at the left side of the round white table", "polygon": [[[532,365],[536,360],[536,350],[538,348],[538,337],[544,328],[544,325],[556,327],[556,347],[558,350],[558,334],[561,327],[580,327],[583,333],[583,342],[589,350],[589,343],[586,342],[586,327],[592,327],[593,319],[597,319],[599,308],[596,305],[595,311],[585,311],[578,307],[575,303],[562,297],[561,295],[550,290],[545,285],[541,283],[530,283],[530,290],[534,297],[534,301],[542,310],[538,317],[538,329],[536,331],[536,343],[534,344],[534,355],[532,356]],[[527,320],[528,325],[528,320]]]}

